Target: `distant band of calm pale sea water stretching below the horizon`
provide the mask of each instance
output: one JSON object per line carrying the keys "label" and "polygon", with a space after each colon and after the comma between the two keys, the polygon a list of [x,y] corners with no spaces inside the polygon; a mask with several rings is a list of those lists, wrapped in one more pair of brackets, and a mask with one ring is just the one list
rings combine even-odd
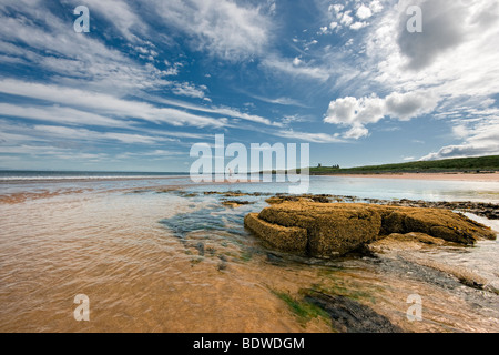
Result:
{"label": "distant band of calm pale sea water stretching below the horizon", "polygon": [[[348,176],[309,176],[308,192],[313,194],[349,195],[360,199],[473,201],[499,203],[499,182],[425,181],[369,179]],[[37,191],[88,189],[144,189],[157,186],[192,186],[203,190],[210,183],[195,184],[186,173],[123,172],[27,172],[0,171],[0,195]],[[287,193],[289,183],[217,183],[221,191]],[[296,184],[295,184],[296,185]]]}

